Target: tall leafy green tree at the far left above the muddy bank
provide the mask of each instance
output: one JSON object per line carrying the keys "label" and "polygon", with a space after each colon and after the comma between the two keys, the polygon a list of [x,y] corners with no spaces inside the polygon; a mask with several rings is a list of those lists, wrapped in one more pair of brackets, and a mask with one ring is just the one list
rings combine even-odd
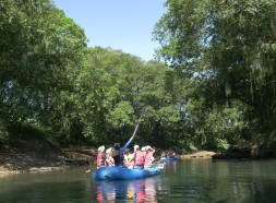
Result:
{"label": "tall leafy green tree at the far left above the muddy bank", "polygon": [[64,74],[85,48],[83,29],[49,0],[0,2],[0,115],[51,129]]}

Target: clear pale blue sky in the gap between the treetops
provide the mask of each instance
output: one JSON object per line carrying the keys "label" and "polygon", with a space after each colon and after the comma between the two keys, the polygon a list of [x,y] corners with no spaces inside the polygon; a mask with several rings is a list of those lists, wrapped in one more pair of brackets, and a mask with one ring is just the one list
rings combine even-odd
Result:
{"label": "clear pale blue sky in the gap between the treetops", "polygon": [[155,24],[166,12],[166,0],[53,0],[65,15],[85,31],[88,47],[120,49],[154,59],[160,48],[153,40]]}

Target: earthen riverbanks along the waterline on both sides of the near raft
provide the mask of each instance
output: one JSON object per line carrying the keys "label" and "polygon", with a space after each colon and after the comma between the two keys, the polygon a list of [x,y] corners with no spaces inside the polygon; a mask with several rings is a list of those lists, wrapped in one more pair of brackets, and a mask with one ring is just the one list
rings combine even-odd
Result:
{"label": "earthen riverbanks along the waterline on both sides of the near raft", "polygon": [[[175,152],[179,159],[268,159],[276,158],[276,140],[269,144],[248,144],[228,150],[184,150],[155,147],[155,160],[163,152]],[[10,142],[0,143],[0,177],[20,172],[45,172],[70,166],[96,164],[97,146],[62,146],[53,136],[37,133],[12,133]]]}

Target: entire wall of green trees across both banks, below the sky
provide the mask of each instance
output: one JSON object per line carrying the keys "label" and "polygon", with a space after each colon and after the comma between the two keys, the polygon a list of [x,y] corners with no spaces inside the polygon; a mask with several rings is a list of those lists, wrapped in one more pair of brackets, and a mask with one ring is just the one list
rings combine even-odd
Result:
{"label": "entire wall of green trees across both banks, below the sky", "polygon": [[0,143],[34,130],[67,145],[124,143],[142,115],[141,145],[275,140],[276,1],[165,5],[153,27],[161,48],[143,61],[87,47],[50,0],[0,1]]}

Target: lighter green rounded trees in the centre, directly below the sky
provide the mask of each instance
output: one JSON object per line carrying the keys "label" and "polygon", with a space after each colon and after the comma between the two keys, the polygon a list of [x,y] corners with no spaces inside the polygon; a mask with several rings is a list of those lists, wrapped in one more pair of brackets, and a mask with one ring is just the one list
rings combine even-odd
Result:
{"label": "lighter green rounded trees in the centre, directly below the sky", "polygon": [[[171,118],[165,123],[159,118],[172,104],[165,87],[166,74],[170,69],[157,61],[144,63],[137,57],[100,47],[89,48],[83,61],[84,65],[72,77],[72,101],[79,112],[75,117],[82,123],[82,133],[91,142],[124,142],[133,133],[145,109],[145,117],[153,114],[153,126],[164,122],[169,127],[169,122],[175,122]],[[172,112],[171,108],[168,108],[168,114]],[[163,115],[158,112],[160,109]],[[148,136],[153,136],[155,129],[147,128],[146,120],[142,122],[139,140],[154,142]]]}

